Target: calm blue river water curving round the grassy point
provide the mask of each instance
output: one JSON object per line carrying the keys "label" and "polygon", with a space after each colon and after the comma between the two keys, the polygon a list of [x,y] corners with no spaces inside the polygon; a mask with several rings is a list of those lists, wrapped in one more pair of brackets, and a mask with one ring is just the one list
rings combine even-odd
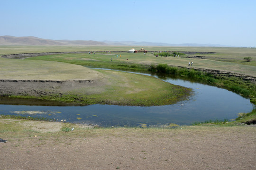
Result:
{"label": "calm blue river water curving round the grassy point", "polygon": [[[66,119],[67,122],[91,123],[100,126],[138,126],[140,124],[149,126],[169,123],[189,125],[195,121],[210,119],[235,119],[238,113],[249,112],[254,107],[249,99],[225,89],[166,77],[165,75],[154,76],[174,85],[192,88],[194,95],[188,101],[151,107],[100,104],[89,106],[40,106],[38,101],[35,102],[37,106],[1,104],[0,114],[55,118],[58,121]],[[23,102],[24,100],[16,104]],[[45,105],[49,105],[49,103]]]}

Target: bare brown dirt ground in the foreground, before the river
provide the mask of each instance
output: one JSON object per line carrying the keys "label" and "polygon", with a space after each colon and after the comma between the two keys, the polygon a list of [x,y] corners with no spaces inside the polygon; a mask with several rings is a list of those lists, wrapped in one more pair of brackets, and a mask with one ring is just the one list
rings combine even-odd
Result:
{"label": "bare brown dirt ground in the foreground, before the river", "polygon": [[[3,122],[0,122],[3,124]],[[5,122],[8,123],[8,122]],[[10,123],[10,122],[9,122]],[[55,124],[56,123],[56,124]],[[0,170],[255,170],[256,126],[78,129],[2,136]],[[0,124],[1,125],[1,124]],[[48,130],[47,130],[48,128]]]}

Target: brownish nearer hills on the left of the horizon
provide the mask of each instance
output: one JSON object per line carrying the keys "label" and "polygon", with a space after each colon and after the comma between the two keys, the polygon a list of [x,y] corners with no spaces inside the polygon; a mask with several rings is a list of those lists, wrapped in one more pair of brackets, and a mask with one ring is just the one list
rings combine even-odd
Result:
{"label": "brownish nearer hills on the left of the horizon", "polygon": [[0,45],[108,45],[105,42],[97,41],[70,41],[70,40],[49,40],[33,36],[15,37],[15,36],[0,36]]}

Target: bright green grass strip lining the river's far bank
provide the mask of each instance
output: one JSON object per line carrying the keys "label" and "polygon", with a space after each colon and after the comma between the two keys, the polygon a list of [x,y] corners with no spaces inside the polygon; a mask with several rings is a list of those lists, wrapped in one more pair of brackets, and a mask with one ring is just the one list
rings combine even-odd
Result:
{"label": "bright green grass strip lining the river's far bank", "polygon": [[[121,58],[116,58],[117,53],[115,54],[105,54],[105,53],[96,53],[94,54],[64,54],[64,55],[49,55],[49,56],[38,56],[34,58],[29,58],[32,60],[49,60],[49,61],[58,61],[58,62],[67,62],[76,65],[83,65],[89,67],[99,67],[99,68],[114,68],[114,69],[135,69],[135,70],[151,70],[151,71],[158,71],[173,75],[180,75],[180,76],[187,76],[189,78],[193,78],[195,80],[199,80],[202,83],[207,83],[210,85],[215,85],[221,88],[228,89],[235,93],[241,94],[245,97],[250,97],[252,101],[255,101],[256,96],[256,84],[251,83],[250,81],[242,80],[241,78],[234,77],[234,76],[224,76],[224,75],[210,75],[206,72],[196,71],[194,69],[184,69],[184,68],[177,68],[177,67],[169,67],[168,64],[155,64],[157,62],[162,62],[165,60],[166,63],[174,62],[174,57],[164,57],[156,58],[152,54],[141,54],[141,53],[121,53],[119,52],[118,55],[121,55]],[[112,58],[110,61],[109,58]],[[126,60],[128,59],[128,60]],[[142,62],[142,60],[145,62]],[[180,60],[180,59],[179,59]],[[213,65],[214,62],[221,63],[221,67],[227,67],[233,69],[238,69],[237,64],[230,63],[230,62],[220,62],[220,61],[213,61],[213,60],[204,60],[204,64]],[[180,62],[180,61],[179,61]],[[215,63],[218,64],[218,63]],[[224,63],[224,64],[223,64]],[[179,64],[182,65],[182,64]],[[219,64],[220,65],[220,64]],[[251,68],[252,67],[252,68]],[[248,68],[252,71],[250,74],[256,75],[256,67],[255,66],[244,66],[239,65],[239,69],[246,70]],[[229,70],[230,71],[230,70]]]}

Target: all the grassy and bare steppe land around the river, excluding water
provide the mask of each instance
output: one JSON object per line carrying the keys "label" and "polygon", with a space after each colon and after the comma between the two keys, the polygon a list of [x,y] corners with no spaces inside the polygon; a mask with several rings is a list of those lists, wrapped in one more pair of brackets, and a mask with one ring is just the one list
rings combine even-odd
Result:
{"label": "all the grassy and bare steppe land around the river, excluding water", "polygon": [[[31,41],[35,43],[34,38]],[[209,72],[215,75],[214,79],[211,77],[201,81],[229,89],[218,78],[223,76],[223,79],[241,85],[239,87],[247,93],[242,93],[242,90],[236,92],[232,88],[229,89],[230,91],[250,98],[255,104],[255,48],[131,47],[96,42],[90,46],[88,44],[86,46],[82,44],[80,46],[77,44],[13,46],[10,45],[11,43],[0,46],[2,96],[24,99],[34,97],[69,103],[72,100],[72,103],[79,104],[87,102],[87,104],[144,106],[172,104],[186,99],[187,94],[193,95],[188,88],[170,85],[152,77],[131,76],[119,71],[90,68],[145,70],[157,68],[157,65],[162,64],[192,72]],[[94,45],[95,43],[97,45]],[[127,51],[131,48],[138,50],[145,48],[148,52],[129,54]],[[170,53],[178,51],[185,55],[179,58],[173,56],[165,58],[155,57],[153,54],[165,50]],[[89,54],[91,51],[95,54]],[[35,53],[50,54],[29,57],[29,54]],[[9,56],[10,54],[28,56],[25,56],[26,59],[12,59],[13,56]],[[252,59],[246,62],[244,57]],[[113,58],[112,62],[111,58]],[[193,68],[188,67],[188,62],[191,61]],[[176,73],[178,72],[179,69]],[[186,75],[183,73],[183,76],[188,78],[191,75],[191,72]],[[229,79],[230,77],[232,79]],[[194,76],[194,78],[198,77]],[[159,94],[154,93],[155,91]],[[56,93],[62,93],[63,96],[68,93],[70,96],[66,95],[64,101],[63,96],[53,95]],[[77,96],[80,98],[75,99]],[[91,100],[87,100],[88,96]],[[170,128],[93,127],[1,115],[0,138],[7,142],[0,143],[0,169],[254,170],[256,169],[255,121],[255,110],[240,115],[234,121]]]}

